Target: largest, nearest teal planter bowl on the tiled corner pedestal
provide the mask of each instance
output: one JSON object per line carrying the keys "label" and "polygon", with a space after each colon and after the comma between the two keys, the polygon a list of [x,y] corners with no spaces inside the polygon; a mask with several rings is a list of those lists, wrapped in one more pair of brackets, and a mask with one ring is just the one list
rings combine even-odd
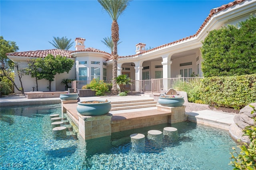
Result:
{"label": "largest, nearest teal planter bowl on the tiled corner pedestal", "polygon": [[[92,102],[92,101],[88,101]],[[84,116],[99,116],[105,115],[111,110],[110,101],[100,101],[104,103],[82,103],[82,101],[78,102],[76,110],[78,113]]]}

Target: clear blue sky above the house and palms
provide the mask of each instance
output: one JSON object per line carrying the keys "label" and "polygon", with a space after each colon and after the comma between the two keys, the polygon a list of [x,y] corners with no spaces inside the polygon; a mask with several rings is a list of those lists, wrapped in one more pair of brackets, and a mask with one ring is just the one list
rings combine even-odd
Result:
{"label": "clear blue sky above the house and palms", "polygon": [[[137,43],[157,47],[200,28],[210,10],[232,0],[134,0],[118,18],[118,55],[134,55]],[[19,51],[54,49],[54,37],[85,38],[86,47],[110,53],[110,16],[96,0],[0,0],[0,35]],[[70,50],[74,50],[74,44]]]}

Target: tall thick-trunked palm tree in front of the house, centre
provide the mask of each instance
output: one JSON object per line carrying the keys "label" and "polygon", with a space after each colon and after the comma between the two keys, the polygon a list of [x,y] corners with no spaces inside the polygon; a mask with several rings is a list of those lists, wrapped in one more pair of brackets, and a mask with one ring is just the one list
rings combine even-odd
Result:
{"label": "tall thick-trunked palm tree in front of the house, centre", "polygon": [[118,60],[118,54],[117,54],[117,44],[119,41],[119,26],[117,23],[118,17],[124,12],[126,7],[129,5],[129,2],[131,0],[98,0],[98,2],[101,4],[103,10],[105,10],[110,18],[112,19],[112,25],[111,25],[111,37],[113,40],[113,54],[111,55],[113,59],[113,65],[112,65],[112,95],[118,94],[118,88],[116,83],[116,77],[117,77],[117,60]]}

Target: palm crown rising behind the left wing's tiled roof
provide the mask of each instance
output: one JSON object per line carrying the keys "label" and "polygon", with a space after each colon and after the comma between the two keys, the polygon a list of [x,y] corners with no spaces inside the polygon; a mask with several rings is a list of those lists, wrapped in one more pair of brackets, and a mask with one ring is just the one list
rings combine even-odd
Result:
{"label": "palm crown rising behind the left wing's tiled roof", "polygon": [[70,42],[71,41],[71,38],[68,40],[68,38],[65,37],[62,37],[62,38],[59,38],[59,37],[53,37],[54,40],[52,40],[52,43],[51,43],[55,48],[57,49],[70,49],[70,47],[72,47],[73,43],[74,42]]}

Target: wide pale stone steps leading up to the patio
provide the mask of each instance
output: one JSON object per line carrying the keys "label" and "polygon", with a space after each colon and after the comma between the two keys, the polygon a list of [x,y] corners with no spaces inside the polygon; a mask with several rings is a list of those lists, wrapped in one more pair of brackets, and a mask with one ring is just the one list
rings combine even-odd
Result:
{"label": "wide pale stone steps leading up to the patio", "polygon": [[156,107],[154,99],[132,100],[132,101],[113,101],[111,102],[111,111],[121,111],[130,109],[141,109]]}

